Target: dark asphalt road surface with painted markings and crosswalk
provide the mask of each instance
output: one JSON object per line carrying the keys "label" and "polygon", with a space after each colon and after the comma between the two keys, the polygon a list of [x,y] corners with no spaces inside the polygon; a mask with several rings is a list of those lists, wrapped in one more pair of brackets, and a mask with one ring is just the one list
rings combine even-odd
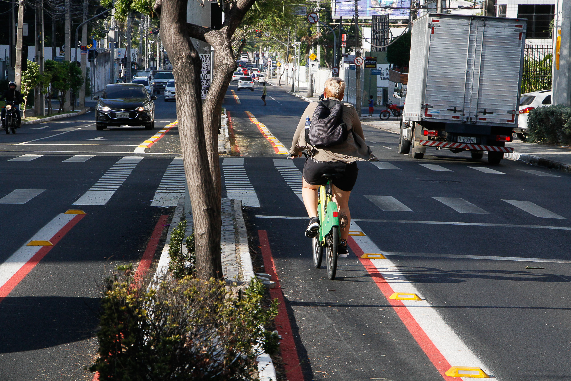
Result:
{"label": "dark asphalt road surface with painted markings and crosswalk", "polygon": [[[303,235],[303,159],[280,153],[307,102],[260,96],[228,89],[223,196],[247,205],[258,270],[277,275],[289,381],[455,380],[451,366],[571,378],[568,174],[430,148],[413,160],[365,125],[380,161],[359,162],[350,255],[328,280]],[[88,113],[0,136],[0,381],[93,378],[100,284],[153,250],[182,193],[176,105],[155,104],[154,131],[96,131]],[[27,245],[43,240],[53,247]]]}

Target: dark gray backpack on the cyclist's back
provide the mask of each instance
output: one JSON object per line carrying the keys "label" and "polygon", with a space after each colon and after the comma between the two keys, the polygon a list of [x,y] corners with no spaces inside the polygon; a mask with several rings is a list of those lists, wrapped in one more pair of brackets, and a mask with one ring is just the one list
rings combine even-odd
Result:
{"label": "dark gray backpack on the cyclist's back", "polygon": [[327,148],[347,140],[347,125],[343,122],[343,104],[325,99],[317,104],[311,125],[305,129],[305,142],[316,148]]}

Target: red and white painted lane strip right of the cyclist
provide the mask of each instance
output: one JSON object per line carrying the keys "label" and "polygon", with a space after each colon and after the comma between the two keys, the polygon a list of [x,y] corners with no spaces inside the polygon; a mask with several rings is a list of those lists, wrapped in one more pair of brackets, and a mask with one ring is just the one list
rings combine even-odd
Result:
{"label": "red and white painted lane strip right of the cyclist", "polygon": [[[353,221],[351,221],[351,231],[362,232]],[[493,374],[444,322],[428,300],[389,299],[394,292],[416,293],[420,297],[423,295],[391,260],[361,258],[364,253],[383,253],[368,236],[349,236],[347,243],[445,380],[459,379],[445,375],[445,372],[452,366],[479,367],[486,374]],[[461,379],[468,380],[467,378]]]}

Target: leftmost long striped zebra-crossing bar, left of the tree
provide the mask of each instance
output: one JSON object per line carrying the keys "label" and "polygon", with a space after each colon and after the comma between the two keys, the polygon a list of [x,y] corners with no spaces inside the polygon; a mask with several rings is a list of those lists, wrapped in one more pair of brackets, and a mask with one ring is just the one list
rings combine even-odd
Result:
{"label": "leftmost long striped zebra-crossing bar, left of the tree", "polygon": [[105,205],[131,174],[142,156],[125,156],[111,166],[73,205]]}

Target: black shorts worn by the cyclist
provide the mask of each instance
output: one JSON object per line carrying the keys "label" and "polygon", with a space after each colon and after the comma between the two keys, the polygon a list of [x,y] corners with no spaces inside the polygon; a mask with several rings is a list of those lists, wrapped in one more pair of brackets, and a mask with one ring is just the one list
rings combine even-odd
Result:
{"label": "black shorts worn by the cyclist", "polygon": [[323,185],[327,182],[327,178],[323,177],[324,173],[342,173],[340,178],[332,178],[333,185],[337,188],[349,192],[353,190],[357,181],[357,162],[344,163],[341,161],[317,161],[312,157],[305,159],[303,166],[303,178],[311,185]]}

